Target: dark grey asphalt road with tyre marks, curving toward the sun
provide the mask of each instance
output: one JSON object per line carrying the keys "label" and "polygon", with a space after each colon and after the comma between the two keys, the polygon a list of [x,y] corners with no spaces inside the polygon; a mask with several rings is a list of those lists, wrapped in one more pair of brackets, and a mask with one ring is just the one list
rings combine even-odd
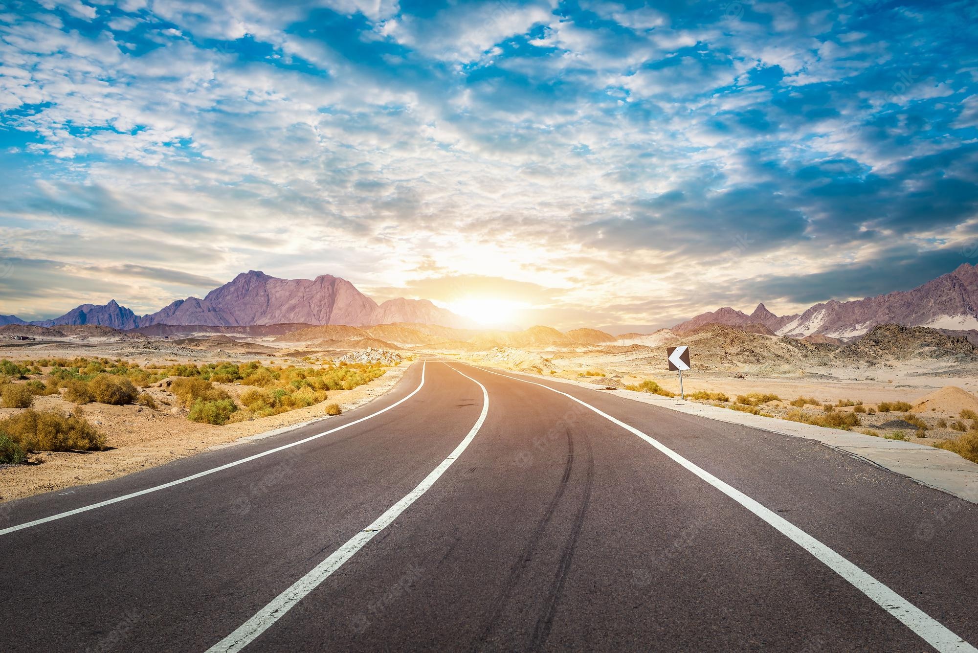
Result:
{"label": "dark grey asphalt road with tyre marks, curving toward the sun", "polygon": [[978,506],[817,443],[429,360],[350,414],[0,504],[0,651],[973,650],[976,552]]}

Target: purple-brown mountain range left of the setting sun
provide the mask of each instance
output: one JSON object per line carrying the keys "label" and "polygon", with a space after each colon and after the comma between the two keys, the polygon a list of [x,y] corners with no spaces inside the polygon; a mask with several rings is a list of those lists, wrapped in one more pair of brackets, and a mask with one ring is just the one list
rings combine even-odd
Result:
{"label": "purple-brown mountain range left of the setting sun", "polygon": [[54,320],[25,323],[0,316],[0,325],[99,325],[119,330],[154,325],[257,326],[378,325],[410,322],[464,328],[465,318],[426,299],[390,299],[378,304],[352,283],[332,275],[316,279],[278,279],[251,270],[204,296],[178,299],[149,315],[138,316],[114,299],[105,305],[82,304]]}

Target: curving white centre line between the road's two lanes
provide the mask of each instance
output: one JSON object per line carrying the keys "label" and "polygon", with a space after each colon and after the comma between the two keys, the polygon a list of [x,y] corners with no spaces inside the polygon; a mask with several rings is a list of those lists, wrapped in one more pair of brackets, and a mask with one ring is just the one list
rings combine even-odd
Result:
{"label": "curving white centre line between the road's two lanes", "polygon": [[[447,367],[449,370],[455,370],[455,368],[449,365],[445,365],[445,367]],[[354,553],[363,548],[364,544],[370,542],[374,536],[389,526],[392,521],[397,519],[398,515],[404,512],[408,506],[415,501],[418,501],[418,499],[425,492],[427,492],[432,485],[434,485],[434,482],[445,473],[445,470],[452,466],[455,459],[459,457],[462,452],[466,451],[468,443],[470,443],[472,438],[475,437],[475,434],[478,433],[479,428],[482,426],[482,422],[484,422],[486,419],[486,414],[489,412],[489,393],[486,391],[486,386],[482,385],[468,374],[465,374],[459,370],[455,371],[458,371],[467,379],[475,382],[480,388],[482,388],[482,413],[479,414],[479,418],[475,420],[475,425],[473,425],[471,430],[468,431],[468,435],[463,438],[462,442],[459,443],[459,446],[455,448],[455,451],[449,454],[447,458],[442,460],[430,474],[424,477],[424,480],[418,484],[418,487],[408,493],[404,499],[397,501],[392,506],[387,508],[387,510],[380,515],[373,524],[357,533],[355,536],[350,538],[346,544],[343,544],[333,551],[330,557],[316,565],[312,571],[293,583],[290,588],[273,598],[268,605],[263,607],[253,617],[244,622],[244,624],[242,624],[242,626],[236,631],[232,632],[227,637],[208,648],[207,653],[234,653],[236,651],[240,651],[249,643],[254,641],[255,638],[262,632],[267,631],[275,622],[282,619],[282,617],[289,612],[292,606],[302,600],[310,591],[318,588],[333,574],[334,571],[339,569],[344,562],[349,560]]]}

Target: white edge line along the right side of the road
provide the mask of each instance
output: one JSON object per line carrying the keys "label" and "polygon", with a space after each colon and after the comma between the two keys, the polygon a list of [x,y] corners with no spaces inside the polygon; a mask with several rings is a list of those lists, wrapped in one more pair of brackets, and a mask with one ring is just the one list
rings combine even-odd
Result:
{"label": "white edge line along the right side of the road", "polygon": [[[467,364],[463,364],[467,365]],[[474,367],[474,366],[469,366]],[[618,426],[621,426],[627,431],[634,433],[639,436],[645,442],[655,447],[657,450],[665,454],[666,456],[672,458],[676,462],[680,463],[693,474],[703,479],[716,489],[720,490],[722,493],[740,503],[755,515],[768,522],[771,526],[775,527],[782,535],[787,537],[789,540],[798,544],[806,551],[818,558],[825,566],[831,569],[833,572],[841,576],[847,582],[849,582],[853,587],[859,589],[864,594],[866,594],[870,599],[872,599],[881,608],[889,612],[891,615],[899,619],[905,626],[907,626],[911,631],[919,635],[924,641],[933,646],[938,651],[942,653],[965,653],[965,652],[975,652],[978,651],[974,646],[964,641],[961,637],[957,636],[953,631],[950,631],[940,622],[935,620],[933,617],[920,610],[915,605],[913,605],[906,598],[893,591],[892,589],[886,587],[872,576],[867,574],[861,568],[857,567],[855,564],[842,557],[836,553],[833,549],[829,548],[825,544],[816,540],[810,536],[805,531],[801,530],[791,522],[787,521],[777,512],[774,512],[766,508],[761,503],[754,501],[747,495],[743,494],[736,488],[731,487],[727,483],[721,481],[719,478],[709,473],[705,469],[695,465],[690,462],[685,457],[680,456],[673,450],[669,449],[663,445],[658,440],[645,435],[642,431],[630,426],[620,419],[616,419],[609,414],[601,412],[599,409],[595,408],[587,402],[581,401],[573,395],[569,395],[566,392],[560,392],[550,386],[544,385],[543,383],[537,383],[535,381],[528,381],[526,379],[517,378],[515,376],[510,376],[509,374],[501,374],[496,371],[483,370],[482,368],[475,368],[476,370],[487,371],[490,374],[496,374],[497,376],[505,376],[506,378],[511,378],[514,381],[520,381],[522,383],[531,383],[532,385],[539,385],[542,388],[546,388],[551,392],[556,392],[558,395],[563,395],[568,399],[577,402],[581,406],[600,414],[605,419],[608,419]]]}

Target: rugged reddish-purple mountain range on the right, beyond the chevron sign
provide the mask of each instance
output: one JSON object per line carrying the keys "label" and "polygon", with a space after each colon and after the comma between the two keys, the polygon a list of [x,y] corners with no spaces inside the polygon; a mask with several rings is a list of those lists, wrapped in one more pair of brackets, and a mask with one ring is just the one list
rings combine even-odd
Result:
{"label": "rugged reddish-purple mountain range on the right, beyond the chevron sign", "polygon": [[833,299],[794,315],[778,317],[764,304],[758,304],[750,315],[725,306],[673,326],[673,330],[689,332],[709,324],[761,325],[773,333],[793,338],[826,336],[842,340],[856,338],[883,324],[976,329],[978,267],[964,263],[954,272],[912,290],[847,302]]}

